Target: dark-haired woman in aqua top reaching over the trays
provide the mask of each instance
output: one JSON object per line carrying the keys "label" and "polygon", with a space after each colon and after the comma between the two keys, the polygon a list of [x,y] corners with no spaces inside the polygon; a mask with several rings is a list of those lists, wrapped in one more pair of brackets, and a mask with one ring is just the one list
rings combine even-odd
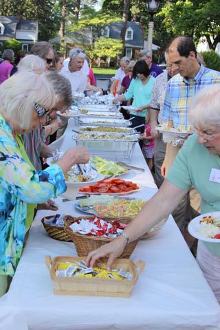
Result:
{"label": "dark-haired woman in aqua top reaching over the trays", "polygon": [[[153,89],[154,78],[150,76],[150,70],[145,61],[137,61],[133,67],[133,79],[129,89],[125,94],[115,98],[114,103],[119,101],[127,101],[133,98],[132,107],[139,108],[138,111],[132,112],[132,126],[145,124],[145,117],[151,102],[151,94]],[[144,126],[137,129],[141,133],[144,132]]]}

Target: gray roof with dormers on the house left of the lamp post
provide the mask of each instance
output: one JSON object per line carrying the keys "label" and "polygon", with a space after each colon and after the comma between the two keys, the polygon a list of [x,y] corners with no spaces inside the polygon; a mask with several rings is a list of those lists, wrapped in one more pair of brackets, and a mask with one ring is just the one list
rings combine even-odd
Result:
{"label": "gray roof with dormers on the house left of the lamp post", "polygon": [[[109,26],[109,38],[120,39],[122,23],[111,23]],[[133,40],[126,40],[124,47],[143,47],[143,32],[138,22],[128,22],[126,28],[132,28]]]}

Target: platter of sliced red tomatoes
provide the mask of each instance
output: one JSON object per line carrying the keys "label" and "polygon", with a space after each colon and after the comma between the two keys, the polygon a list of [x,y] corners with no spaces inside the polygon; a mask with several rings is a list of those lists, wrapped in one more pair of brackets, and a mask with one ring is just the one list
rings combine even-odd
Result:
{"label": "platter of sliced red tomatoes", "polygon": [[139,191],[140,188],[132,181],[125,181],[120,178],[103,179],[97,184],[80,188],[79,194],[88,195],[127,195]]}

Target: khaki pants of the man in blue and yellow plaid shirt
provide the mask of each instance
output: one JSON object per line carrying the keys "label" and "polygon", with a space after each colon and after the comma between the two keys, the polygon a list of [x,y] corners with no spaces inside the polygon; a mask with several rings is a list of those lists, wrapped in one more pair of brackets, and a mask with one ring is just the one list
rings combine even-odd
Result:
{"label": "khaki pants of the man in blue and yellow plaid shirt", "polygon": [[[166,175],[170,167],[173,165],[175,157],[179,152],[178,146],[169,144],[166,151]],[[175,222],[177,223],[179,230],[184,234],[186,223],[188,219],[193,219],[200,213],[201,196],[194,187],[190,188],[188,194],[181,200],[177,208],[172,213]]]}

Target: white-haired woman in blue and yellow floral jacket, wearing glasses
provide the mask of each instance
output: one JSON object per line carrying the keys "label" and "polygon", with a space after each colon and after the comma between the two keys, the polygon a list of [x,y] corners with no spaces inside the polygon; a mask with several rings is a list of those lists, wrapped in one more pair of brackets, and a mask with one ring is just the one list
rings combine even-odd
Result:
{"label": "white-haired woman in blue and yellow floral jacket, wearing glasses", "polygon": [[45,76],[15,74],[0,87],[0,296],[21,258],[30,203],[43,203],[65,192],[65,174],[86,163],[85,148],[66,151],[58,162],[36,172],[25,153],[21,133],[28,133],[54,107],[54,89]]}

